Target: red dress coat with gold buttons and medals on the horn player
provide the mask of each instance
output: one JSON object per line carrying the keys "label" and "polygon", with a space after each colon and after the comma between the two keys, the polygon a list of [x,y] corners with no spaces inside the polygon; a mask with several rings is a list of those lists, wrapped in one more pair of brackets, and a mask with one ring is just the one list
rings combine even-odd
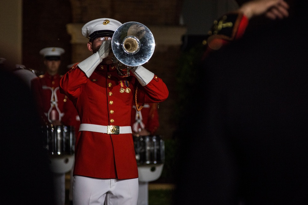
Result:
{"label": "red dress coat with gold buttons and medals on the horn player", "polygon": [[[110,65],[99,65],[88,78],[72,67],[60,81],[61,92],[75,105],[82,124],[130,126],[132,105],[137,101],[162,102],[168,97],[164,82],[154,75],[141,86],[134,76],[119,77]],[[121,93],[120,89],[130,89]],[[128,90],[128,89],[127,89]],[[75,144],[74,175],[102,179],[138,177],[132,134],[80,131]]]}

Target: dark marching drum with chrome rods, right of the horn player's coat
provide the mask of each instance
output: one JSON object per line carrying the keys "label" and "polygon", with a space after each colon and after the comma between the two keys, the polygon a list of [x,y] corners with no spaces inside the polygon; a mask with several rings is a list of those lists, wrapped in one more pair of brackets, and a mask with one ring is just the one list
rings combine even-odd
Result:
{"label": "dark marching drum with chrome rods, right of the horn player's coat", "polygon": [[138,165],[164,163],[165,144],[161,136],[134,136],[133,139]]}

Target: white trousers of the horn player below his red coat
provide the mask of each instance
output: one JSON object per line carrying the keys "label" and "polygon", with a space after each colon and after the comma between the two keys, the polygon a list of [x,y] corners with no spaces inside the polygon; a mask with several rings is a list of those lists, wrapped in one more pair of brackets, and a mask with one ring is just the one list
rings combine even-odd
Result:
{"label": "white trousers of the horn player below his red coat", "polygon": [[97,179],[74,176],[74,205],[136,205],[138,178]]}

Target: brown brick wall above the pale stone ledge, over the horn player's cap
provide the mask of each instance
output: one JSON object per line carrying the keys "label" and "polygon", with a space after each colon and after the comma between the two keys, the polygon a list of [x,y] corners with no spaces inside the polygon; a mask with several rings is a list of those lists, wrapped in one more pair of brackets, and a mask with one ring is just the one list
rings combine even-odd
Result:
{"label": "brown brick wall above the pale stone ledge, over the horn player's cap", "polygon": [[71,0],[73,23],[96,18],[113,18],[122,23],[136,21],[144,25],[178,25],[183,0]]}

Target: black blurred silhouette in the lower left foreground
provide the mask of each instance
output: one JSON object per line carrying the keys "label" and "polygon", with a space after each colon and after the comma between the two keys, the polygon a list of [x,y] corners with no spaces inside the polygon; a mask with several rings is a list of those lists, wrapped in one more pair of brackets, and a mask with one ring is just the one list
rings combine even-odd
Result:
{"label": "black blurred silhouette in the lower left foreground", "polygon": [[0,65],[1,204],[54,204],[47,151],[29,87]]}

